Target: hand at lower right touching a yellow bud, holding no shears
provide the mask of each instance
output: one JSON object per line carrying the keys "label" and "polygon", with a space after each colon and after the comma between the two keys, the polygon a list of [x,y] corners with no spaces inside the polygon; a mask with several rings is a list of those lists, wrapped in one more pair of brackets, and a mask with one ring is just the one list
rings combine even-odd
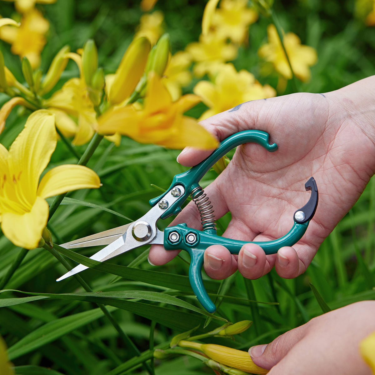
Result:
{"label": "hand at lower right touching a yellow bud, holding no shears", "polygon": [[370,375],[359,343],[375,330],[374,309],[375,301],[362,301],[330,311],[249,354],[269,375]]}

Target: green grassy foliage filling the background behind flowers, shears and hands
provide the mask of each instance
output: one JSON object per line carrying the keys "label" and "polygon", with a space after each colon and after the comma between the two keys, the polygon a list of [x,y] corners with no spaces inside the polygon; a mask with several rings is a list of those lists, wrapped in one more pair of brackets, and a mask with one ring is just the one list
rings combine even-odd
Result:
{"label": "green grassy foliage filling the background behind flowers, shears and hands", "polygon": [[[164,13],[172,53],[198,40],[204,6],[205,1],[187,0],[160,0],[156,4],[155,9]],[[105,67],[106,73],[114,72],[142,15],[138,1],[58,0],[42,9],[51,22],[49,41],[42,53],[44,72],[63,45],[69,44],[74,51],[89,38],[93,38],[98,46],[99,65]],[[293,31],[303,44],[318,51],[312,79],[309,83],[299,83],[300,91],[327,92],[374,74],[375,29],[365,27],[361,20],[354,18],[354,1],[276,0],[274,10],[285,31]],[[9,17],[13,12],[12,3],[1,2],[3,17]],[[249,44],[240,48],[234,65],[237,69],[248,69],[261,83],[276,87],[276,76],[261,75],[257,56],[259,46],[266,41],[268,23],[266,18],[260,17],[251,25]],[[18,80],[23,81],[19,58],[10,53],[6,43],[0,46],[6,65]],[[76,66],[69,63],[58,87],[77,75]],[[191,92],[195,83],[186,92]],[[291,92],[292,87],[288,85],[285,93]],[[6,96],[0,96],[0,104],[6,100]],[[203,110],[204,105],[199,105],[190,114],[198,116]],[[12,113],[5,132],[0,135],[0,142],[8,147],[25,121],[25,114]],[[83,153],[85,147],[77,149]],[[184,170],[175,161],[177,154],[178,151],[140,145],[125,138],[120,147],[103,141],[88,164],[99,174],[103,186],[95,191],[73,192],[69,197],[109,208],[120,215],[66,199],[50,222],[54,242],[63,243],[129,222],[123,216],[132,220],[142,216],[149,209],[148,200],[159,195],[159,190],[151,184],[165,189],[173,175]],[[59,142],[49,167],[75,162],[77,160]],[[215,177],[215,172],[210,171],[202,185]],[[229,220],[229,214],[219,220],[221,232]],[[227,296],[222,299],[217,315],[232,322],[254,321],[248,331],[236,336],[236,341],[212,339],[211,342],[247,350],[252,345],[271,341],[329,308],[374,299],[374,223],[375,181],[371,180],[359,202],[323,243],[305,274],[285,280],[272,271],[261,279],[250,281],[237,272],[222,282],[205,282],[211,293],[216,294],[219,290],[219,294]],[[167,220],[161,223],[167,224]],[[97,250],[83,249],[80,254],[90,256]],[[0,237],[0,279],[19,254],[19,248],[4,236]],[[115,320],[142,353],[147,354],[153,343],[165,345],[163,343],[168,343],[175,334],[198,324],[198,332],[203,332],[205,315],[171,305],[172,300],[168,300],[168,296],[177,296],[200,308],[189,288],[186,261],[187,257],[182,255],[165,266],[153,267],[147,262],[147,249],[136,249],[110,261],[131,267],[133,270],[109,266],[114,274],[127,277],[87,270],[82,274],[83,278],[95,292],[102,293],[66,297],[56,294],[83,292],[77,281],[69,278],[56,283],[55,279],[65,273],[65,269],[46,250],[29,251],[6,288],[50,296],[30,296],[17,291],[0,294],[0,334],[9,347],[15,373],[141,373],[144,369],[137,363],[139,361],[127,362],[134,357],[132,351],[103,317],[96,303],[108,305]],[[146,291],[162,292],[166,300],[152,300],[154,297]],[[106,295],[104,292],[113,293]],[[273,304],[275,302],[278,304]],[[207,329],[220,324],[213,319]],[[195,359],[177,357],[155,363],[156,374],[175,374],[176,369],[180,375],[211,371]]]}

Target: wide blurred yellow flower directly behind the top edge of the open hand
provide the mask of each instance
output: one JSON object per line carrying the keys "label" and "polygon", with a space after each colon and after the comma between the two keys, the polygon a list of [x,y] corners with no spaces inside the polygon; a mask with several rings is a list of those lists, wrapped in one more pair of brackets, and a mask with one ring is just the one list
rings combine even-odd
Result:
{"label": "wide blurred yellow flower directly behind the top edge of the open hand", "polygon": [[232,64],[222,65],[214,83],[200,81],[193,91],[210,108],[199,120],[229,110],[243,102],[276,96],[276,91],[271,86],[262,86],[255,80],[254,75],[245,69],[237,72]]}

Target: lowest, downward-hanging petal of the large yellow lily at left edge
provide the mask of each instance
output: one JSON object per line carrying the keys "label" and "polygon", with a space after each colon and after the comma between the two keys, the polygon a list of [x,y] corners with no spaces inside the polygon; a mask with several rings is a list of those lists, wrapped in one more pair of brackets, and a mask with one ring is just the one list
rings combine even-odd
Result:
{"label": "lowest, downward-hanging petal of the large yellow lily at left edge", "polygon": [[36,197],[30,212],[17,214],[3,213],[1,230],[14,243],[25,249],[34,249],[42,237],[43,228],[48,220],[48,203],[41,197]]}

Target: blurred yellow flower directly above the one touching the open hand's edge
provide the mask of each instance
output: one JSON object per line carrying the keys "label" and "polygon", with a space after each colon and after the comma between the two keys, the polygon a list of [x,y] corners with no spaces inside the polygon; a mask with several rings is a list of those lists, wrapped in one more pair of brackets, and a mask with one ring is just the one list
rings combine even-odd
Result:
{"label": "blurred yellow flower directly above the one touching the open hand's edge", "polygon": [[219,39],[216,33],[201,34],[199,42],[193,42],[186,46],[186,51],[192,55],[196,62],[193,72],[197,77],[204,74],[215,75],[220,65],[234,60],[237,57],[238,48]]}

